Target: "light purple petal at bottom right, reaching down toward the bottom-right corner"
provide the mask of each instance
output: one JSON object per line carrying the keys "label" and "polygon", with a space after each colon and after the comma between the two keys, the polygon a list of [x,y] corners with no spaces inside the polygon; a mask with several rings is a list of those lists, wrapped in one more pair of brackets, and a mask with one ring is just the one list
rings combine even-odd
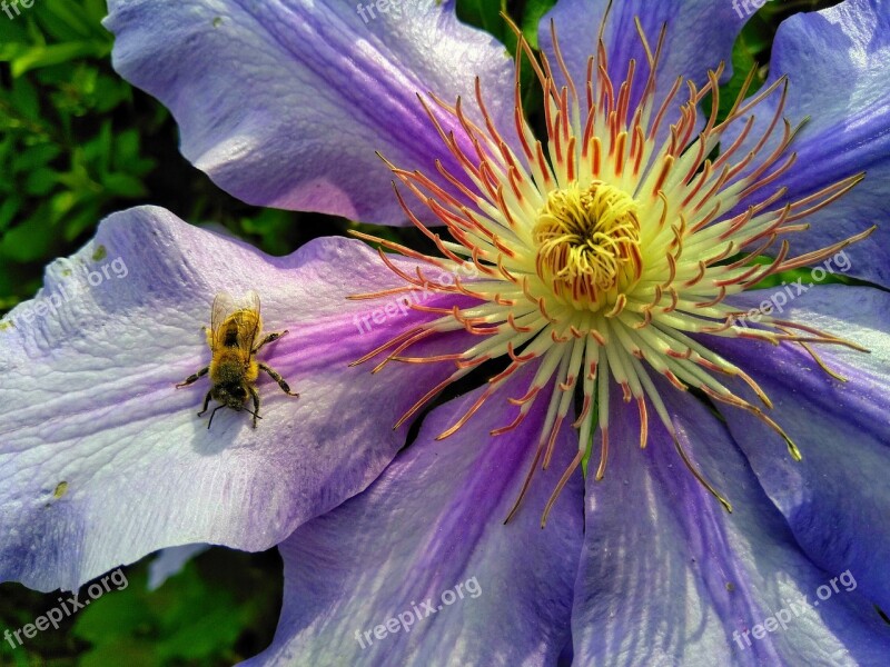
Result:
{"label": "light purple petal at bottom right, reaching down toward the bottom-right corner", "polygon": [[[842,571],[804,556],[724,426],[694,398],[670,386],[661,392],[684,447],[733,512],[699,486],[660,422],[641,450],[636,410],[617,412],[605,478],[587,480],[576,664],[881,664],[890,626],[871,603],[846,576],[820,600],[819,587]],[[804,596],[819,605],[804,610]]]}

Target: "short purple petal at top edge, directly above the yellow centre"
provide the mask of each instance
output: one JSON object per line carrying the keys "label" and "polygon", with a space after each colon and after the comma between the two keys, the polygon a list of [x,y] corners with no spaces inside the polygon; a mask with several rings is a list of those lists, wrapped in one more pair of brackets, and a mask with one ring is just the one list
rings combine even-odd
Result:
{"label": "short purple petal at top edge, directly above the yellow centre", "polygon": [[[730,1],[560,0],[542,19],[538,27],[540,40],[553,68],[558,72],[551,39],[552,19],[568,72],[582,93],[587,59],[596,53],[596,38],[609,4],[612,8],[603,40],[609,58],[609,73],[616,88],[625,80],[631,59],[636,61],[631,109],[636,107],[650,73],[645,50],[636,32],[635,18],[639,17],[653,51],[662,26],[666,24],[668,28],[657,69],[656,99],[661,103],[678,77],[692,79],[701,86],[708,80],[708,70],[716,68],[721,61],[726,63],[723,79],[728,80],[732,72],[732,44],[750,16],[741,8],[735,9]],[[675,121],[680,103],[689,99],[685,87],[675,99],[676,103],[665,116],[663,128]]]}

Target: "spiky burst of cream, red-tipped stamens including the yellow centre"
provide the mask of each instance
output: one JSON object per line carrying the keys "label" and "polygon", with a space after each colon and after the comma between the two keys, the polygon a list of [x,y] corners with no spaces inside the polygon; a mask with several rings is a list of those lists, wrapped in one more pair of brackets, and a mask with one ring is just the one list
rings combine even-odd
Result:
{"label": "spiky burst of cream, red-tipped stamens including the yellow centre", "polygon": [[[673,437],[679,460],[731,511],[729,500],[684,451],[662,392],[694,389],[715,406],[745,410],[767,424],[789,455],[800,460],[801,452],[770,415],[772,404],[756,381],[706,344],[709,337],[729,337],[799,345],[822,368],[813,344],[862,350],[854,342],[772,313],[748,326],[740,320],[744,311],[728,299],[771,275],[833,256],[871,233],[874,228],[798,257],[790,257],[787,240],[804,233],[808,216],[842,197],[863,176],[782,202],[781,179],[797,160],[791,147],[799,129],[782,116],[787,80],[777,79],[748,97],[752,70],[720,121],[722,64],[709,72],[701,88],[678,78],[671,90],[656,94],[655,71],[666,27],[653,48],[636,22],[645,61],[631,60],[622,81],[609,73],[602,29],[586,79],[573,81],[553,24],[553,63],[544,54],[538,60],[513,28],[518,42],[515,127],[510,132],[496,127],[477,79],[472,111],[461,99],[451,104],[433,94],[418,96],[431,130],[441,137],[443,151],[454,158],[448,163],[458,165],[459,171],[446,168],[445,161],[437,163],[435,175],[386,162],[405,215],[441,255],[429,257],[390,240],[355,233],[379,243],[380,259],[404,287],[354,298],[376,299],[419,287],[452,295],[454,305],[413,303],[413,309],[433,313],[433,319],[399,331],[355,364],[374,359],[375,372],[389,364],[452,367],[445,380],[402,416],[398,427],[451,384],[487,361],[500,360],[502,370],[487,378],[478,399],[439,439],[459,431],[491,400],[515,408],[515,418],[494,429],[493,436],[518,428],[532,407],[543,401],[545,418],[537,446],[530,452],[532,464],[506,520],[518,510],[535,471],[551,465],[556,436],[566,424],[576,429],[577,449],[544,507],[542,527],[585,456],[595,464],[589,474],[603,479],[610,447],[634,446],[610,444],[610,417],[627,407],[640,415],[636,446],[646,447],[654,412]],[[523,56],[545,97],[546,137],[540,139],[523,109]],[[680,94],[683,89],[685,96]],[[709,96],[712,111],[701,118],[699,108]],[[763,135],[754,137],[754,113],[773,96],[772,117]],[[668,125],[666,119],[674,120]],[[738,132],[732,135],[729,128]],[[451,238],[422,222],[406,195],[426,209],[426,218],[437,219]],[[415,260],[417,270],[400,269],[383,248]],[[764,255],[772,259],[754,261]],[[433,278],[443,272],[455,279],[443,285]],[[463,351],[435,357],[413,354],[421,341],[461,330],[473,335]],[[734,394],[724,378],[748,385],[759,405]],[[593,451],[596,431],[599,456]]]}

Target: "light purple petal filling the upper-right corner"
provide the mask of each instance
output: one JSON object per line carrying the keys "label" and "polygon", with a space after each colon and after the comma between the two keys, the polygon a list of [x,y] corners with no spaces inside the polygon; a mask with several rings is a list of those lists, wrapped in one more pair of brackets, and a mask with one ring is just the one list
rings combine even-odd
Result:
{"label": "light purple petal filling the upper-right corner", "polygon": [[[853,260],[849,275],[883,286],[890,286],[888,71],[890,9],[878,0],[848,0],[795,14],[780,26],[765,83],[788,74],[785,118],[792,123],[810,118],[791,146],[797,162],[777,181],[789,188],[785,201],[866,172],[852,192],[808,218],[808,231],[788,237],[792,253],[830,246],[878,225],[871,237],[848,250]],[[772,96],[759,107],[751,141],[762,136],[778,101]],[[761,192],[768,195],[769,189],[758,197]]]}

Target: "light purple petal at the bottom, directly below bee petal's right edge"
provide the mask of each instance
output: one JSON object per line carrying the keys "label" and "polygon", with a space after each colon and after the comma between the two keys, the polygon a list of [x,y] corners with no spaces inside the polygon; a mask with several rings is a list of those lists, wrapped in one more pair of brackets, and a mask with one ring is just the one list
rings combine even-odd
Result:
{"label": "light purple petal at the bottom, directly below bee petal's right edge", "polygon": [[[436,441],[479,391],[433,411],[417,441],[367,491],[281,545],[281,620],[273,646],[249,665],[555,664],[568,641],[581,549],[580,471],[544,530],[540,520],[577,437],[562,431],[552,467],[538,471],[504,525],[546,406],[533,408],[517,430],[492,437],[515,408],[488,405]],[[452,595],[458,597],[447,604]],[[434,609],[428,616],[425,601]],[[422,616],[407,625],[416,609]],[[393,620],[385,636],[374,636],[399,614],[405,627]]]}

